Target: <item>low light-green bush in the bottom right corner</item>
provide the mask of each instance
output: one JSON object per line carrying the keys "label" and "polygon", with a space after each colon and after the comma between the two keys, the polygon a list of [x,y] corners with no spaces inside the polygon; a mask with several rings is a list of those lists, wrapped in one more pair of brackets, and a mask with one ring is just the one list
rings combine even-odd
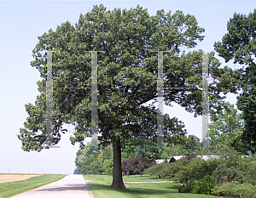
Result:
{"label": "low light-green bush in the bottom right corner", "polygon": [[212,189],[212,195],[256,198],[256,186],[248,183],[239,184],[239,182],[233,181],[215,186]]}

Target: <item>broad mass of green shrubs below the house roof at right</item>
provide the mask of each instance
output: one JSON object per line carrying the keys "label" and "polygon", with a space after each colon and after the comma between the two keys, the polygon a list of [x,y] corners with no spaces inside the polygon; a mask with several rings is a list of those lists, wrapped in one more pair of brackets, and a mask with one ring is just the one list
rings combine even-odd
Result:
{"label": "broad mass of green shrubs below the house roof at right", "polygon": [[[256,156],[242,157],[233,147],[223,146],[216,151],[217,159],[207,161],[196,158],[194,153],[173,163],[160,163],[146,171],[156,178],[169,178],[183,184],[179,192],[212,195],[230,195],[234,182],[242,195],[249,186],[255,186]],[[214,187],[214,190],[213,190]],[[238,192],[234,188],[232,192]],[[243,196],[253,197],[253,196]]]}

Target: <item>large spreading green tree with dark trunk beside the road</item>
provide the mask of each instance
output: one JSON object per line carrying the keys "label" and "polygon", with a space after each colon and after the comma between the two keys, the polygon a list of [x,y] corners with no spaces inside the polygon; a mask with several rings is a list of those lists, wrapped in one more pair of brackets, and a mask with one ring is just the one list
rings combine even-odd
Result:
{"label": "large spreading green tree with dark trunk beside the road", "polygon": [[[106,11],[103,5],[94,6],[90,13],[80,14],[79,21],[71,25],[68,21],[38,37],[38,44],[32,50],[31,65],[40,72],[38,82],[40,95],[35,105],[26,105],[28,113],[24,128],[18,138],[22,149],[42,150],[46,140],[45,131],[45,50],[55,50],[53,59],[53,84],[55,87],[90,87],[90,53],[105,51],[98,59],[98,126],[102,148],[113,145],[112,187],[125,190],[121,173],[121,148],[129,144],[140,145],[145,152],[157,146],[157,110],[154,105],[145,105],[157,99],[158,65],[157,54],[151,51],[169,51],[164,58],[164,79],[166,87],[194,87],[201,84],[202,52],[181,52],[180,48],[194,48],[204,36],[195,17],[177,11],[157,11],[149,16],[147,9],[137,6],[130,10],[115,8]],[[219,69],[220,63],[209,56],[210,109],[212,113],[224,107],[225,90],[232,89],[226,76],[229,69]],[[222,83],[222,87],[218,86]],[[228,92],[228,91],[226,91]],[[201,115],[201,90],[168,89],[165,103],[172,102],[184,107],[195,116]],[[55,89],[53,144],[61,139],[64,123],[74,124],[72,144],[83,146],[90,137],[91,110],[90,89]],[[185,136],[183,123],[177,118],[165,115],[165,141],[175,144],[177,138]],[[179,136],[177,134],[180,134]],[[175,135],[175,139],[172,136]],[[151,150],[155,156],[157,150]]]}

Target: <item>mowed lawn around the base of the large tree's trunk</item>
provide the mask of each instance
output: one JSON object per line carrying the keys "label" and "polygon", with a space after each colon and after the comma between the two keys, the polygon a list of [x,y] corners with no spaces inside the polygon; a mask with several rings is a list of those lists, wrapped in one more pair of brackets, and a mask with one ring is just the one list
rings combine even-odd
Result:
{"label": "mowed lawn around the base of the large tree's trunk", "polygon": [[[94,198],[213,198],[214,195],[200,195],[189,193],[178,193],[181,187],[179,183],[126,183],[125,190],[115,190],[109,187],[112,183],[112,176],[108,175],[83,175],[85,180],[95,180],[86,182],[91,194]],[[144,177],[144,178],[143,178]],[[155,179],[149,176],[132,175],[124,177],[125,182],[152,182],[164,181],[164,179]],[[167,181],[167,180],[166,180]]]}

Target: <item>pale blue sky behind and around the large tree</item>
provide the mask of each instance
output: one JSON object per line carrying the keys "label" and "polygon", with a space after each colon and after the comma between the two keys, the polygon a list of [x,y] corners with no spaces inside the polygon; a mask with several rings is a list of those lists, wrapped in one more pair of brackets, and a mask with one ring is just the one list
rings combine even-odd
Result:
{"label": "pale blue sky behind and around the large tree", "polygon": [[[107,9],[137,7],[148,8],[154,15],[157,10],[166,12],[182,10],[184,14],[195,15],[198,24],[204,27],[204,41],[195,48],[213,50],[213,43],[220,41],[226,32],[226,24],[236,13],[253,12],[255,1],[234,0],[169,0],[169,1],[0,1],[0,173],[67,173],[75,168],[75,153],[79,145],[73,146],[63,135],[60,149],[25,152],[20,149],[17,138],[20,127],[26,121],[24,105],[34,104],[38,95],[36,82],[41,80],[39,72],[32,68],[32,49],[38,43],[38,36],[50,28],[70,21],[73,25],[79,14],[90,12],[93,5],[102,3]],[[220,59],[220,58],[219,58]],[[224,64],[224,60],[220,59]],[[228,64],[237,69],[240,65]],[[231,103],[236,96],[230,94]],[[178,105],[165,107],[165,113],[177,116],[185,122],[189,134],[201,138],[201,116],[194,118]]]}

